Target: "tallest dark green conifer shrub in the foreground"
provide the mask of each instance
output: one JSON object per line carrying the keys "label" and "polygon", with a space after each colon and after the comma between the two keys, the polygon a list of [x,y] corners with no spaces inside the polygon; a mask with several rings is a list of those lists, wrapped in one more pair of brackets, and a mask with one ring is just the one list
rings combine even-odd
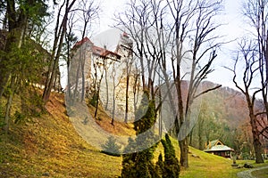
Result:
{"label": "tallest dark green conifer shrub in the foreground", "polygon": [[[155,119],[155,101],[149,101],[148,93],[144,93],[141,104],[135,113],[134,129],[136,130],[137,138],[135,140],[130,138],[129,144],[125,148],[125,152],[130,153],[123,155],[121,178],[159,177],[152,163],[156,148],[156,144],[154,144],[156,137],[153,132],[147,131],[155,124]],[[147,134],[141,135],[145,132]],[[138,148],[144,149],[147,145],[153,146],[146,150],[135,151]]]}

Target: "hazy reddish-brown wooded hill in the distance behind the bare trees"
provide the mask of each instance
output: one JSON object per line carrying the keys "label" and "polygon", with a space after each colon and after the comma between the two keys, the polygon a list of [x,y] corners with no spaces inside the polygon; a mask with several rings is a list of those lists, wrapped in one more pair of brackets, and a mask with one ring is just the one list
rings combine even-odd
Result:
{"label": "hazy reddish-brown wooded hill in the distance behind the bare trees", "polygon": [[[197,93],[202,93],[207,89],[214,88],[216,85],[218,84],[214,84],[210,81],[204,81],[200,85]],[[186,103],[188,81],[181,81],[181,86],[183,101]],[[166,86],[163,85],[161,87],[163,88],[163,93],[165,93]],[[172,100],[174,100],[175,105],[177,105],[178,101],[174,85],[172,88],[172,93]],[[230,87],[222,86],[198,97],[197,100],[194,101],[192,107],[193,110],[195,109],[195,113],[193,113],[193,115],[196,115],[196,117],[202,103],[207,105],[207,112],[210,113],[211,117],[214,117],[218,123],[225,123],[226,125],[229,125],[231,129],[249,122],[247,101],[245,96],[243,93],[240,93],[239,91]],[[255,101],[255,109],[262,109],[261,101]]]}

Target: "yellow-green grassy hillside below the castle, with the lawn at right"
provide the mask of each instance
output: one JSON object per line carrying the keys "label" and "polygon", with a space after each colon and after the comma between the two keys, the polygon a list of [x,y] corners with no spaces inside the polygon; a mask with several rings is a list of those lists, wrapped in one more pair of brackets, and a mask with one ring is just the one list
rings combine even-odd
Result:
{"label": "yellow-green grassy hillside below the castle, with the lawn at right", "polygon": [[[11,125],[8,139],[0,142],[0,177],[39,177],[49,173],[51,177],[116,177],[121,172],[121,158],[101,153],[83,141],[65,115],[63,95],[53,94],[46,105],[48,113],[33,118],[23,125]],[[90,109],[89,109],[90,110]],[[99,125],[114,134],[133,132],[130,126],[109,124],[105,114]],[[106,123],[106,124],[105,124]],[[0,137],[1,138],[1,137]],[[176,152],[178,142],[172,140]],[[188,169],[182,169],[186,177],[236,177],[238,169],[232,169],[231,161],[190,148]],[[155,151],[163,152],[160,145]],[[178,154],[179,156],[179,154]]]}

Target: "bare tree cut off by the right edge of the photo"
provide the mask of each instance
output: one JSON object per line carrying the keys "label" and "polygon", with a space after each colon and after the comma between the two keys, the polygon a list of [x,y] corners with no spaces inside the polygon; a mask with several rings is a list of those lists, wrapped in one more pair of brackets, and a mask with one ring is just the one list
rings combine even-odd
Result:
{"label": "bare tree cut off by the right edge of the photo", "polygon": [[[261,111],[259,117],[262,117],[263,123],[258,123],[263,127],[262,134],[268,134],[267,123],[267,113],[268,113],[268,1],[267,0],[247,0],[243,5],[243,14],[247,18],[247,23],[254,30],[250,33],[251,38],[255,41],[254,50],[258,55],[258,65],[259,65],[259,85],[262,85],[261,94],[263,96],[264,111]],[[247,34],[248,36],[248,34]]]}

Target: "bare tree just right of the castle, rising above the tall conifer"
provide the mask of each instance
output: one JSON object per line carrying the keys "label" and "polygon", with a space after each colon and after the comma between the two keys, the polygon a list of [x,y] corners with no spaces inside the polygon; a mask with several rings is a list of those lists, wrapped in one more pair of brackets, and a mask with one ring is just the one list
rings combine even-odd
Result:
{"label": "bare tree just right of the castle, rising above the tall conifer", "polygon": [[149,1],[131,0],[128,5],[128,11],[122,12],[116,16],[117,25],[122,26],[121,30],[127,31],[128,35],[133,40],[133,46],[135,49],[132,53],[137,56],[140,62],[141,68],[141,80],[143,90],[148,90],[147,72],[151,73],[148,68],[147,61],[150,61],[147,55],[146,36],[148,35],[147,28],[151,26],[149,23],[151,7]]}

